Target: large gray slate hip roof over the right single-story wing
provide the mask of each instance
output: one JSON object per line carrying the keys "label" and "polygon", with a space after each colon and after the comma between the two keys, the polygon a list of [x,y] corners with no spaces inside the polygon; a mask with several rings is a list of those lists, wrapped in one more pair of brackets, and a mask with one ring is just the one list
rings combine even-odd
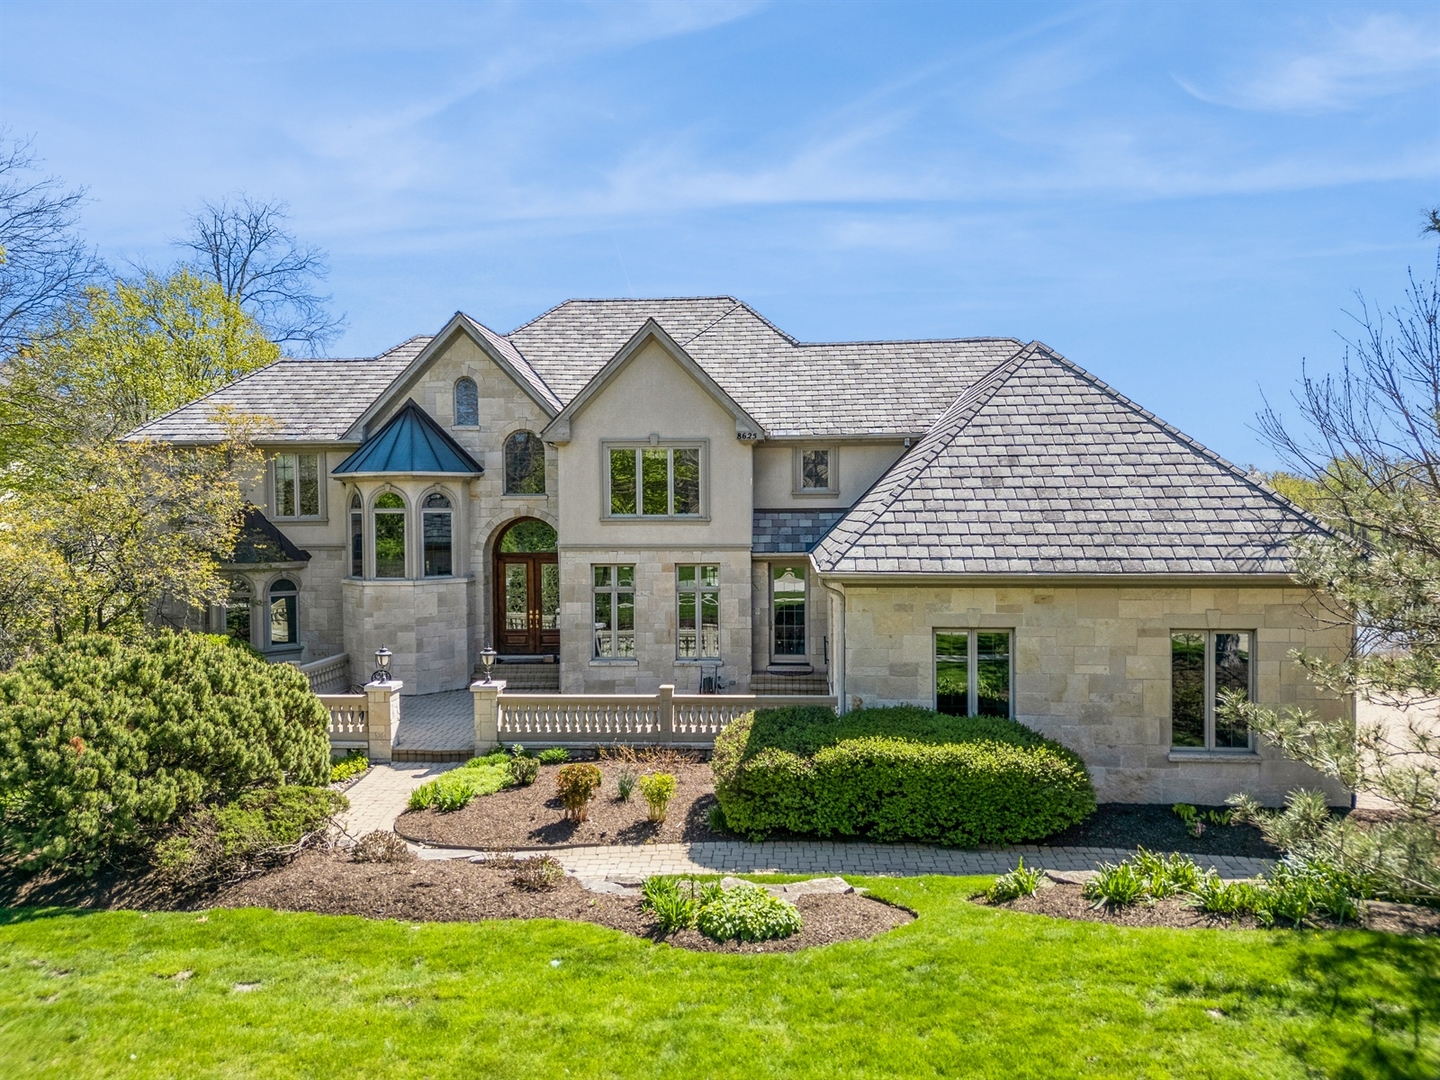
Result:
{"label": "large gray slate hip roof over the right single-story wing", "polygon": [[815,549],[835,573],[1289,573],[1296,507],[1041,344],[971,387]]}

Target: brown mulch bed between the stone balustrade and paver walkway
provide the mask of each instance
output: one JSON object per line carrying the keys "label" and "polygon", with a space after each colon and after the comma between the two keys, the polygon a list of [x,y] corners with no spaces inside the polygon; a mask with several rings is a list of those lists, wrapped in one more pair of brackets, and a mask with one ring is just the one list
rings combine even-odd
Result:
{"label": "brown mulch bed between the stone balustrade and paver walkway", "polygon": [[[564,805],[556,793],[559,765],[544,765],[527,788],[505,788],[494,795],[472,799],[464,809],[409,811],[395,822],[395,831],[419,844],[507,851],[517,848],[569,847],[579,844],[678,844],[706,840],[733,840],[710,828],[710,808],[717,805],[714,776],[708,765],[694,762],[657,762],[622,766],[599,762],[600,791],[590,802],[588,821],[566,821]],[[619,801],[616,776],[622,768],[636,772],[668,772],[675,778],[675,798],[665,821],[647,819],[645,798],[639,788],[626,802]]]}

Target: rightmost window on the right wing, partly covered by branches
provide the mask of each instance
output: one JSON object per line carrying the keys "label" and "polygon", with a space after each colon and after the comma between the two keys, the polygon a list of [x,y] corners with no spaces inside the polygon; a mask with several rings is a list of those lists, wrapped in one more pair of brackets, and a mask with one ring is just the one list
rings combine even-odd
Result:
{"label": "rightmost window on the right wing, partly covered by branches", "polygon": [[1251,750],[1250,729],[1225,720],[1218,707],[1234,690],[1253,698],[1254,671],[1250,631],[1172,631],[1171,747]]}

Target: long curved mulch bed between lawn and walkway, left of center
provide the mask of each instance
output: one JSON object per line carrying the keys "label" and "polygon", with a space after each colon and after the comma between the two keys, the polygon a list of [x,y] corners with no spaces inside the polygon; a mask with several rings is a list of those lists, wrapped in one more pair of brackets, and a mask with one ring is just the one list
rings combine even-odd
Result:
{"label": "long curved mulch bed between lawn and walkway, left of center", "polygon": [[641,910],[639,897],[590,893],[573,877],[549,890],[514,884],[508,867],[467,860],[353,863],[341,852],[311,851],[264,877],[232,886],[210,907],[271,907],[279,912],[357,914],[408,922],[475,919],[573,919],[700,952],[796,952],[874,937],[914,919],[858,893],[801,896],[799,933],[773,942],[713,942],[697,930],[664,936]]}

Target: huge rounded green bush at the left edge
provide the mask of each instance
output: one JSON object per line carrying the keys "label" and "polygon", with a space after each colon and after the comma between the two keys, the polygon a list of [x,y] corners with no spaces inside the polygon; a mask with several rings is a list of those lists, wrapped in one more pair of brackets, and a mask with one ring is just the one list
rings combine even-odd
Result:
{"label": "huge rounded green bush at the left edge", "polygon": [[92,871],[256,788],[330,780],[305,677],[226,638],[75,638],[0,675],[0,844]]}

